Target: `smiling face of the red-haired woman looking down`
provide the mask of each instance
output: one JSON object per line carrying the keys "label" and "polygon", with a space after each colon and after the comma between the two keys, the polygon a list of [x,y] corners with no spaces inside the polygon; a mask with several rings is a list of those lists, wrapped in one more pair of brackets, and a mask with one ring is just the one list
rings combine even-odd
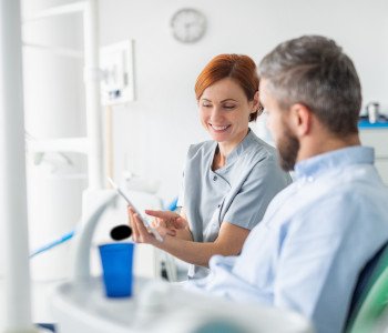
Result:
{"label": "smiling face of the red-haired woman looking down", "polygon": [[258,93],[248,101],[244,90],[226,78],[205,89],[198,108],[201,122],[212,139],[235,147],[247,133],[249,114],[258,108]]}

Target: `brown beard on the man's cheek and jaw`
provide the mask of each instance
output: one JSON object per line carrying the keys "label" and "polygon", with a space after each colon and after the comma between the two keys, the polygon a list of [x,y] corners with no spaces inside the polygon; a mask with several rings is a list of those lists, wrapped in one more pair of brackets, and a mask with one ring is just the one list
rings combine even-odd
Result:
{"label": "brown beard on the man's cheek and jaw", "polygon": [[280,167],[284,171],[293,171],[298,155],[299,140],[285,124],[283,137],[277,140]]}

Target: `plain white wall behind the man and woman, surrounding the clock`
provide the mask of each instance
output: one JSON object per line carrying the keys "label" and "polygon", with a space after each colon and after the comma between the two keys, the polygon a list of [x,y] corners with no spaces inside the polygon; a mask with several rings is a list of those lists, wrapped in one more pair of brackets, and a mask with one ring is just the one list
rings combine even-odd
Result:
{"label": "plain white wall behind the man and woman, surrounding the clock", "polygon": [[[176,42],[170,19],[194,7],[208,19],[195,44]],[[100,0],[101,43],[135,40],[136,101],[114,112],[115,173],[162,180],[160,195],[178,191],[190,143],[207,139],[197,120],[196,75],[222,52],[256,62],[278,42],[305,33],[334,38],[359,71],[365,101],[388,110],[388,2],[385,0]],[[125,161],[129,162],[125,162]]]}

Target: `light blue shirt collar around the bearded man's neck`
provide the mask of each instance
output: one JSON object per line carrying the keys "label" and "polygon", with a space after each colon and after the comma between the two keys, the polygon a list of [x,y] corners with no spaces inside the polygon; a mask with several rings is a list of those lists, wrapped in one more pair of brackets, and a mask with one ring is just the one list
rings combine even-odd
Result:
{"label": "light blue shirt collar around the bearded man's neck", "polygon": [[350,164],[374,164],[375,150],[370,147],[348,147],[323,153],[295,164],[297,179],[315,176],[318,173]]}

